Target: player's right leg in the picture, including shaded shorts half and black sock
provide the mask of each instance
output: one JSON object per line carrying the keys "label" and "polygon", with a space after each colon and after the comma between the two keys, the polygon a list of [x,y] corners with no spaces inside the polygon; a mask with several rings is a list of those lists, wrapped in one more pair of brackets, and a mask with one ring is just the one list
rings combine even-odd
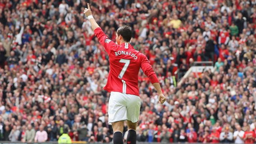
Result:
{"label": "player's right leg in the picture, including shaded shorts half and black sock", "polygon": [[140,97],[134,95],[128,95],[127,98],[127,144],[136,144],[136,127],[140,116]]}

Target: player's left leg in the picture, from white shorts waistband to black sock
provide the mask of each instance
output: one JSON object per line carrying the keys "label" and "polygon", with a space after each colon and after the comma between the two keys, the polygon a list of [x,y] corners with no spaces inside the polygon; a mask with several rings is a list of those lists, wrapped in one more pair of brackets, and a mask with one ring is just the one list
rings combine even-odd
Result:
{"label": "player's left leg in the picture, from white shorts waistband to black sock", "polygon": [[126,101],[119,92],[111,92],[109,99],[109,123],[113,128],[114,144],[123,144],[124,120],[127,119]]}

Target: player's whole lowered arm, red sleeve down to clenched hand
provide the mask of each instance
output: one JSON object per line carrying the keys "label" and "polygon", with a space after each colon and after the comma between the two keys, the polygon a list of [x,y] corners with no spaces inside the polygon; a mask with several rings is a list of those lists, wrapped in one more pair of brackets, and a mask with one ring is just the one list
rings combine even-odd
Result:
{"label": "player's whole lowered arm, red sleeve down to clenched hand", "polygon": [[150,65],[146,55],[141,54],[141,57],[142,57],[141,58],[141,69],[143,70],[144,74],[150,79],[150,82],[155,87],[157,94],[158,94],[158,102],[162,104],[163,102],[165,102],[166,99],[161,90],[161,86],[159,84],[156,73],[154,72],[152,66]]}

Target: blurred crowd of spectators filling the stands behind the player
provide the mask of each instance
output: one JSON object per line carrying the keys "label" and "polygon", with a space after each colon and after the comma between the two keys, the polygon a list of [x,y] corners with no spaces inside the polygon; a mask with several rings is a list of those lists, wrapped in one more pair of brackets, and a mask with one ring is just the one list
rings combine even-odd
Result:
{"label": "blurred crowd of spectators filling the stands behind the player", "polygon": [[[146,54],[167,101],[139,73],[143,142],[256,138],[256,0],[0,0],[0,140],[111,142],[108,55],[83,11],[115,41],[119,26]],[[189,75],[194,61],[216,70]],[[126,139],[127,126],[124,128]]]}

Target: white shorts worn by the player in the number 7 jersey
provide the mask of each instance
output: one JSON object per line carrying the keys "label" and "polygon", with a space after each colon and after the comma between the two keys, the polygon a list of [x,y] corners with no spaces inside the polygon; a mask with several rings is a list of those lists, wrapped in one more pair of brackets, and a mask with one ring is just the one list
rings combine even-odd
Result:
{"label": "white shorts worn by the player in the number 7 jersey", "polygon": [[136,95],[111,92],[109,99],[109,124],[128,120],[132,123],[139,121],[140,97]]}

